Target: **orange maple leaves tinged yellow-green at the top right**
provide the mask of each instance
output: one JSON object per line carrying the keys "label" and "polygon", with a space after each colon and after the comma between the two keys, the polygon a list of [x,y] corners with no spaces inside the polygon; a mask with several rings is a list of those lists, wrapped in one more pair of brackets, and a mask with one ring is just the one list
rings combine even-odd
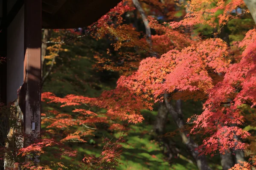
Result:
{"label": "orange maple leaves tinged yellow-green at the top right", "polygon": [[[225,25],[230,18],[231,11],[238,7],[245,7],[243,0],[190,0],[187,2],[186,9],[189,11],[185,18],[180,22],[171,22],[172,28],[179,26],[194,26],[197,24],[205,24],[211,27],[217,26],[215,22],[218,19],[219,25]],[[217,12],[222,11],[220,14]],[[248,13],[248,10],[244,10]]]}

